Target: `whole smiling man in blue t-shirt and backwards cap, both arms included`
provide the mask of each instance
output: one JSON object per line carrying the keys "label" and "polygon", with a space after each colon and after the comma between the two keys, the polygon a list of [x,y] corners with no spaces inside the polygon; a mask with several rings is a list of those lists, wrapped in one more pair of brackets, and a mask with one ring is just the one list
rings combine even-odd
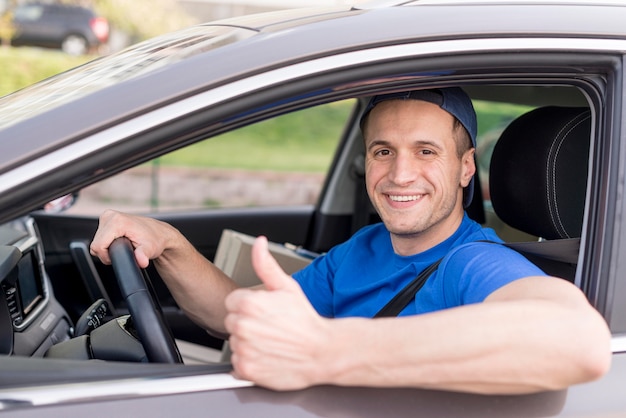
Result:
{"label": "whole smiling man in blue t-shirt and backwards cap, both arms included", "polygon": [[[547,277],[464,213],[476,119],[461,89],[376,96],[362,120],[366,185],[382,224],[285,274],[258,238],[263,289],[236,285],[170,225],[105,212],[91,245],[128,237],[185,312],[230,335],[237,376],[273,389],[318,384],[478,393],[560,389],[602,376],[610,333],[572,284]],[[398,318],[371,319],[441,264]]]}

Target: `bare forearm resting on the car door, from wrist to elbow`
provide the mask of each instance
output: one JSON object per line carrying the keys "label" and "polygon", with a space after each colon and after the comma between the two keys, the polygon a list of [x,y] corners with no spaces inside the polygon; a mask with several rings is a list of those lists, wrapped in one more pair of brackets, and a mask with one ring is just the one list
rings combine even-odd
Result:
{"label": "bare forearm resting on the car door, from wrist to elbow", "polygon": [[602,321],[589,306],[541,299],[334,320],[325,383],[477,393],[561,389],[606,371],[610,335]]}

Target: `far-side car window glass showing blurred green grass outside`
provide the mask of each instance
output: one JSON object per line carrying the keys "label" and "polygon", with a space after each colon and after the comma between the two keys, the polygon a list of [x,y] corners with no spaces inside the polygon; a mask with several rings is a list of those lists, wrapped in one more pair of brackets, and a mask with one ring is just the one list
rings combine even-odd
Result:
{"label": "far-side car window glass showing blurred green grass outside", "polygon": [[71,213],[313,204],[354,101],[207,139],[83,189]]}

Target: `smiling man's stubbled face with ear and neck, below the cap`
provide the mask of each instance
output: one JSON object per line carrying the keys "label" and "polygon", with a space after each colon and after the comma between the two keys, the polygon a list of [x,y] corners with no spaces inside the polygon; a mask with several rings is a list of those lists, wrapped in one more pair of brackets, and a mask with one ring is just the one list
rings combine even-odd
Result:
{"label": "smiling man's stubbled face with ear and neck, below the cap", "polygon": [[367,192],[399,254],[428,249],[460,225],[474,150],[459,158],[453,123],[448,112],[420,100],[385,101],[368,116]]}

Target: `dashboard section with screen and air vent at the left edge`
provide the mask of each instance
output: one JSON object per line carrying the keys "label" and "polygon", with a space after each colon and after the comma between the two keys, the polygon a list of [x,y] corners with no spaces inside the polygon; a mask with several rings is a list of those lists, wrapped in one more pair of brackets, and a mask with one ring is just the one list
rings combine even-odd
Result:
{"label": "dashboard section with screen and air vent at the left edge", "polygon": [[0,355],[43,356],[70,339],[71,321],[55,300],[30,217],[0,226]]}

